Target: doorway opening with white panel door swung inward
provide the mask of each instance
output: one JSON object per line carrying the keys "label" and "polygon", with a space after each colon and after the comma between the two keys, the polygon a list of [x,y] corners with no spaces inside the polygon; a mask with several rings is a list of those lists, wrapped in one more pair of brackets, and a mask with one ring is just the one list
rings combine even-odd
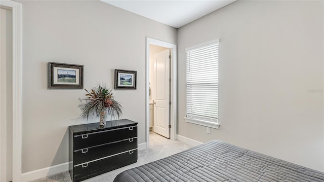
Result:
{"label": "doorway opening with white panel door swung inward", "polygon": [[149,107],[150,134],[170,139],[170,63],[169,48],[150,44]]}

